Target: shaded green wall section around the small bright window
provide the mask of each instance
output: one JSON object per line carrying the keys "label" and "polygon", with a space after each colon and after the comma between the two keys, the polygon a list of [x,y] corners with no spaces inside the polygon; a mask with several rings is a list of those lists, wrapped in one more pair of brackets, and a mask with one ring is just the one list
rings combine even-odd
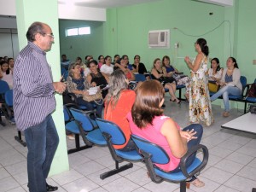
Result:
{"label": "shaded green wall section around the small bright window", "polygon": [[[61,55],[75,61],[80,56],[84,61],[85,55],[93,55],[97,59],[103,50],[103,23],[102,21],[87,20],[59,20]],[[80,26],[90,26],[90,35],[66,37],[66,29]]]}

